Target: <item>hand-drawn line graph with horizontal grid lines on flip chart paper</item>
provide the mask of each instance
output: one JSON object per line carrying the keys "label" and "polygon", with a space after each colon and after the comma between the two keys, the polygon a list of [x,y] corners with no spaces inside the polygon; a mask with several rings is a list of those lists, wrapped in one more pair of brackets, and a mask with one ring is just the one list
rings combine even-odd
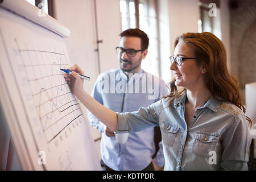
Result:
{"label": "hand-drawn line graph with horizontal grid lines on flip chart paper", "polygon": [[[67,69],[67,59],[64,51],[56,51],[55,46],[34,45],[27,47],[15,39],[18,53],[26,72],[31,95],[35,102],[42,133],[47,143],[52,142],[73,121],[82,115],[77,98],[73,96],[64,73],[60,68]],[[81,121],[80,121],[81,122]],[[70,130],[70,128],[69,128]]]}

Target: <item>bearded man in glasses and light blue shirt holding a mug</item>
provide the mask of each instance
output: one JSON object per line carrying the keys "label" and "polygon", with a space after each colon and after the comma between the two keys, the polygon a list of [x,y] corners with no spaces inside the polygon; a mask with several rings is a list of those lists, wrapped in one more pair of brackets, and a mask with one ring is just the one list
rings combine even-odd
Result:
{"label": "bearded man in glasses and light blue shirt holding a mug", "polygon": [[[135,28],[119,35],[121,39],[115,49],[120,69],[98,76],[92,97],[109,109],[123,113],[159,101],[168,92],[162,79],[141,69],[141,62],[147,55],[147,34]],[[160,135],[159,127],[155,129],[159,132],[151,127],[130,133],[127,141],[121,144],[115,140],[114,131],[94,117],[89,110],[87,115],[91,125],[102,133],[101,166],[104,170],[159,170],[164,166],[162,142],[159,143],[158,140],[155,145],[155,139],[160,138],[154,137],[156,133]]]}

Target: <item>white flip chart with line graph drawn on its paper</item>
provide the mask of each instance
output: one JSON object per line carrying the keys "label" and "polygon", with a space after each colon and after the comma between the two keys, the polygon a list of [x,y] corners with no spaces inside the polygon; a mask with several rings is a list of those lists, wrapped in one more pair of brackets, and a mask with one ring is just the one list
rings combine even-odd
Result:
{"label": "white flip chart with line graph drawn on its paper", "polygon": [[71,65],[64,40],[69,31],[49,16],[37,17],[34,6],[11,2],[6,6],[20,15],[0,8],[6,139],[25,170],[100,170],[86,118],[60,71]]}

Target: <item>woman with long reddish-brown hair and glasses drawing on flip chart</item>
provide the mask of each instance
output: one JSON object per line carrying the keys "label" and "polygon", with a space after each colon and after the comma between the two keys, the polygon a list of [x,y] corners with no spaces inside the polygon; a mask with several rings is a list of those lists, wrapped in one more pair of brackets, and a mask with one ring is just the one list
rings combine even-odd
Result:
{"label": "woman with long reddish-brown hair and glasses drawing on flip chart", "polygon": [[170,60],[170,94],[132,113],[115,113],[90,97],[77,65],[65,77],[82,104],[116,133],[160,126],[165,170],[247,170],[251,121],[221,40],[209,32],[183,34]]}

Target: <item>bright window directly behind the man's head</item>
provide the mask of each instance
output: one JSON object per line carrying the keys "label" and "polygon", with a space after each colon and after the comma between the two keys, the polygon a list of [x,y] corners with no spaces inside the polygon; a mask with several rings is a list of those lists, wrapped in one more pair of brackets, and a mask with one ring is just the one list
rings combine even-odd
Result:
{"label": "bright window directly behind the man's head", "polygon": [[156,0],[120,0],[122,31],[128,28],[140,28],[146,32],[150,43],[148,55],[142,61],[142,69],[159,76],[159,39],[156,15]]}

